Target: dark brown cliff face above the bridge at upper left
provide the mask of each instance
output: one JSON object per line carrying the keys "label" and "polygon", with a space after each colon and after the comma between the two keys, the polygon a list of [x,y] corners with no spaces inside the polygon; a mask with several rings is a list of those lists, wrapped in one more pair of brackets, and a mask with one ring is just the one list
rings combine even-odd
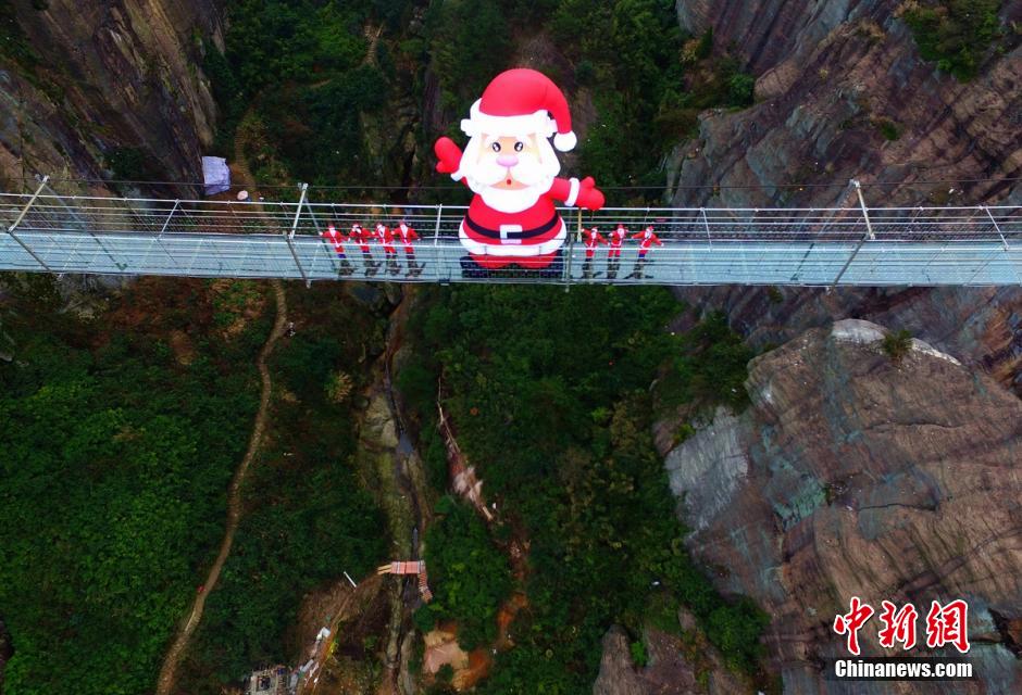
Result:
{"label": "dark brown cliff face above the bridge at upper left", "polygon": [[223,40],[217,3],[14,0],[12,7],[12,38],[0,53],[4,190],[23,190],[30,184],[18,177],[37,173],[98,178],[117,149],[148,162],[148,176],[200,177],[216,109],[199,66],[205,48]]}

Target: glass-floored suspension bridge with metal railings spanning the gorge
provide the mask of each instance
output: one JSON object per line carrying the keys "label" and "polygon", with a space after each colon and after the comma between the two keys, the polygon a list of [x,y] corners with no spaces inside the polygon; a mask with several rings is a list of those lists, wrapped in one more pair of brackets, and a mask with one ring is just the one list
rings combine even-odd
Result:
{"label": "glass-floored suspension bridge with metal railings spanning the gorge", "polygon": [[[775,285],[814,287],[1022,285],[1022,206],[831,208],[606,207],[562,210],[570,233],[554,273],[469,273],[448,205],[238,202],[57,194],[43,178],[34,193],[0,193],[0,269],[91,275],[283,278],[395,282]],[[322,236],[401,219],[420,235],[417,267],[402,247],[387,267],[374,241],[369,257],[348,243],[350,275]],[[626,241],[620,273],[607,247],[586,263],[579,226],[605,236],[652,225],[653,247],[630,273],[638,243]],[[367,262],[369,261],[369,262]],[[417,273],[416,273],[417,270]]]}

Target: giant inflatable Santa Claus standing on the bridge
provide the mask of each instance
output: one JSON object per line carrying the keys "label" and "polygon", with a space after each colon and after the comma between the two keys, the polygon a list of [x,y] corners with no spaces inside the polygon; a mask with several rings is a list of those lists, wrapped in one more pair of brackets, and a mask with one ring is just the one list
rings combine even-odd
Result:
{"label": "giant inflatable Santa Claus standing on the bridge", "polygon": [[[468,277],[503,268],[562,274],[566,227],[553,204],[599,210],[603,193],[591,177],[558,178],[553,148],[576,143],[568,100],[543,73],[506,71],[490,81],[461,122],[465,151],[450,138],[434,146],[437,170],[463,181],[475,197],[459,229]],[[553,137],[553,147],[550,137]]]}

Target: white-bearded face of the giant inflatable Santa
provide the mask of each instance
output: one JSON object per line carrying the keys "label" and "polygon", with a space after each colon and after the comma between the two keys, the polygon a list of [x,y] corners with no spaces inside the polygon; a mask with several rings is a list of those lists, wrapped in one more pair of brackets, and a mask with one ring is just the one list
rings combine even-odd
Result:
{"label": "white-bearded face of the giant inflatable Santa", "polygon": [[472,191],[504,213],[533,206],[560,170],[553,148],[536,135],[478,135],[469,140],[461,159],[461,173]]}

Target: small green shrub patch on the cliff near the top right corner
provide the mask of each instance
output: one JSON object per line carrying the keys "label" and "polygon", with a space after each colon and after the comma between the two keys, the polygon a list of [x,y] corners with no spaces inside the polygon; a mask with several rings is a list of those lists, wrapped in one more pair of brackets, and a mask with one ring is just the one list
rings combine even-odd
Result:
{"label": "small green shrub patch on the cliff near the top right corner", "polygon": [[903,14],[924,60],[961,81],[976,76],[1001,34],[1001,0],[939,0],[909,3]]}

